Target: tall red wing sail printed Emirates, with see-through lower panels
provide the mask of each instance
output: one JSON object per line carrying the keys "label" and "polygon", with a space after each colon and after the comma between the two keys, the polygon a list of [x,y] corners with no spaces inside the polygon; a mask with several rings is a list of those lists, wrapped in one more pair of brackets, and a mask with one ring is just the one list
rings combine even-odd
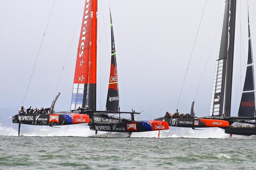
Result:
{"label": "tall red wing sail printed Emirates, with see-through lower panels", "polygon": [[77,50],[71,110],[96,110],[97,0],[86,0]]}

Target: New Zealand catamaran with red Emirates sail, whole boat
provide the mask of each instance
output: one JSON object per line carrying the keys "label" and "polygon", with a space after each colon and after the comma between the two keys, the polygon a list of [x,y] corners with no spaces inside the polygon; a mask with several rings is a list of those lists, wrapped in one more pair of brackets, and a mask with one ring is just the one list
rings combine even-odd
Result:
{"label": "New Zealand catamaran with red Emirates sail, whole boat", "polygon": [[[76,68],[70,112],[54,112],[52,102],[49,114],[30,114],[24,110],[13,116],[12,122],[20,125],[58,126],[88,123],[91,130],[106,132],[146,132],[169,129],[168,123],[162,120],[135,121],[137,112],[120,112],[119,91],[116,66],[113,25],[111,21],[111,66],[108,97],[105,111],[96,110],[96,71],[97,71],[97,0],[86,0],[82,27],[77,51]],[[23,112],[23,113],[22,113]],[[121,114],[131,115],[122,118]]]}

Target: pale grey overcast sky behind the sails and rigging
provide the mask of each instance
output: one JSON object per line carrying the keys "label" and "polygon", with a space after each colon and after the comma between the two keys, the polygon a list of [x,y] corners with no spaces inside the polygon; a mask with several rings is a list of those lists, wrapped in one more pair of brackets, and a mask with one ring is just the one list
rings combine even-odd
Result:
{"label": "pale grey overcast sky behind the sails and rigging", "polygon": [[[23,102],[54,1],[0,1],[0,107]],[[50,107],[77,22],[74,40],[57,92],[56,110],[69,111],[84,0],[56,0],[24,101],[25,107]],[[153,119],[176,110],[205,1],[110,0],[114,29],[120,110]],[[240,1],[237,1],[240,11]],[[110,72],[109,1],[98,5],[97,110],[105,110]],[[256,7],[249,1],[253,53],[256,47]],[[208,0],[188,74],[178,105],[190,111],[223,15],[224,0]],[[103,10],[103,13],[102,13]],[[103,22],[103,16],[104,21]],[[105,26],[105,28],[104,28]],[[248,54],[247,2],[241,2],[245,62]],[[105,34],[106,31],[106,34]],[[100,41],[99,41],[100,40]],[[197,116],[209,115],[219,32],[195,98]],[[107,46],[108,43],[108,46]],[[108,49],[109,47],[109,49]],[[237,8],[231,115],[241,98],[245,77],[243,48],[240,62],[240,23]],[[241,65],[241,69],[240,69]],[[242,74],[240,74],[240,70]],[[16,113],[8,113],[14,115]]]}

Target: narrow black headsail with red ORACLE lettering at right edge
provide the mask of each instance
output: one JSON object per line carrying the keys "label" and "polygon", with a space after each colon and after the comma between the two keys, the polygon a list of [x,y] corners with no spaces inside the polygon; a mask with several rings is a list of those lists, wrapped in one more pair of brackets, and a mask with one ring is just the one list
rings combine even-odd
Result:
{"label": "narrow black headsail with red ORACLE lettering at right edge", "polygon": [[244,80],[243,93],[239,106],[238,116],[255,117],[255,86],[254,86],[254,69],[252,58],[252,43],[251,32],[249,25],[249,10],[248,10],[248,31],[249,31],[249,46],[248,46],[248,62],[246,76]]}

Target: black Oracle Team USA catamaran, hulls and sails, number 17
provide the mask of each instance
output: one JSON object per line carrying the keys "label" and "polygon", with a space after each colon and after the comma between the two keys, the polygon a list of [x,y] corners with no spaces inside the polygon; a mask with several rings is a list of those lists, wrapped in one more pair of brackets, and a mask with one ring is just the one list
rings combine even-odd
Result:
{"label": "black Oracle Team USA catamaran, hulls and sails, number 17", "polygon": [[[189,118],[160,117],[155,120],[167,121],[169,126],[206,128],[219,127],[225,129],[225,133],[236,135],[256,135],[255,129],[255,85],[254,69],[252,57],[251,32],[249,25],[249,6],[248,6],[248,62],[246,78],[244,81],[243,93],[238,111],[238,117],[230,117],[231,113],[231,94],[232,94],[232,75],[234,57],[234,35],[236,21],[236,0],[225,1],[225,10],[222,18],[222,28],[220,33],[219,48],[214,76],[214,83],[211,95],[210,116],[195,117],[194,102],[191,106]],[[224,103],[225,101],[225,103]],[[235,125],[232,125],[236,123]],[[242,126],[251,124],[252,126]]]}

